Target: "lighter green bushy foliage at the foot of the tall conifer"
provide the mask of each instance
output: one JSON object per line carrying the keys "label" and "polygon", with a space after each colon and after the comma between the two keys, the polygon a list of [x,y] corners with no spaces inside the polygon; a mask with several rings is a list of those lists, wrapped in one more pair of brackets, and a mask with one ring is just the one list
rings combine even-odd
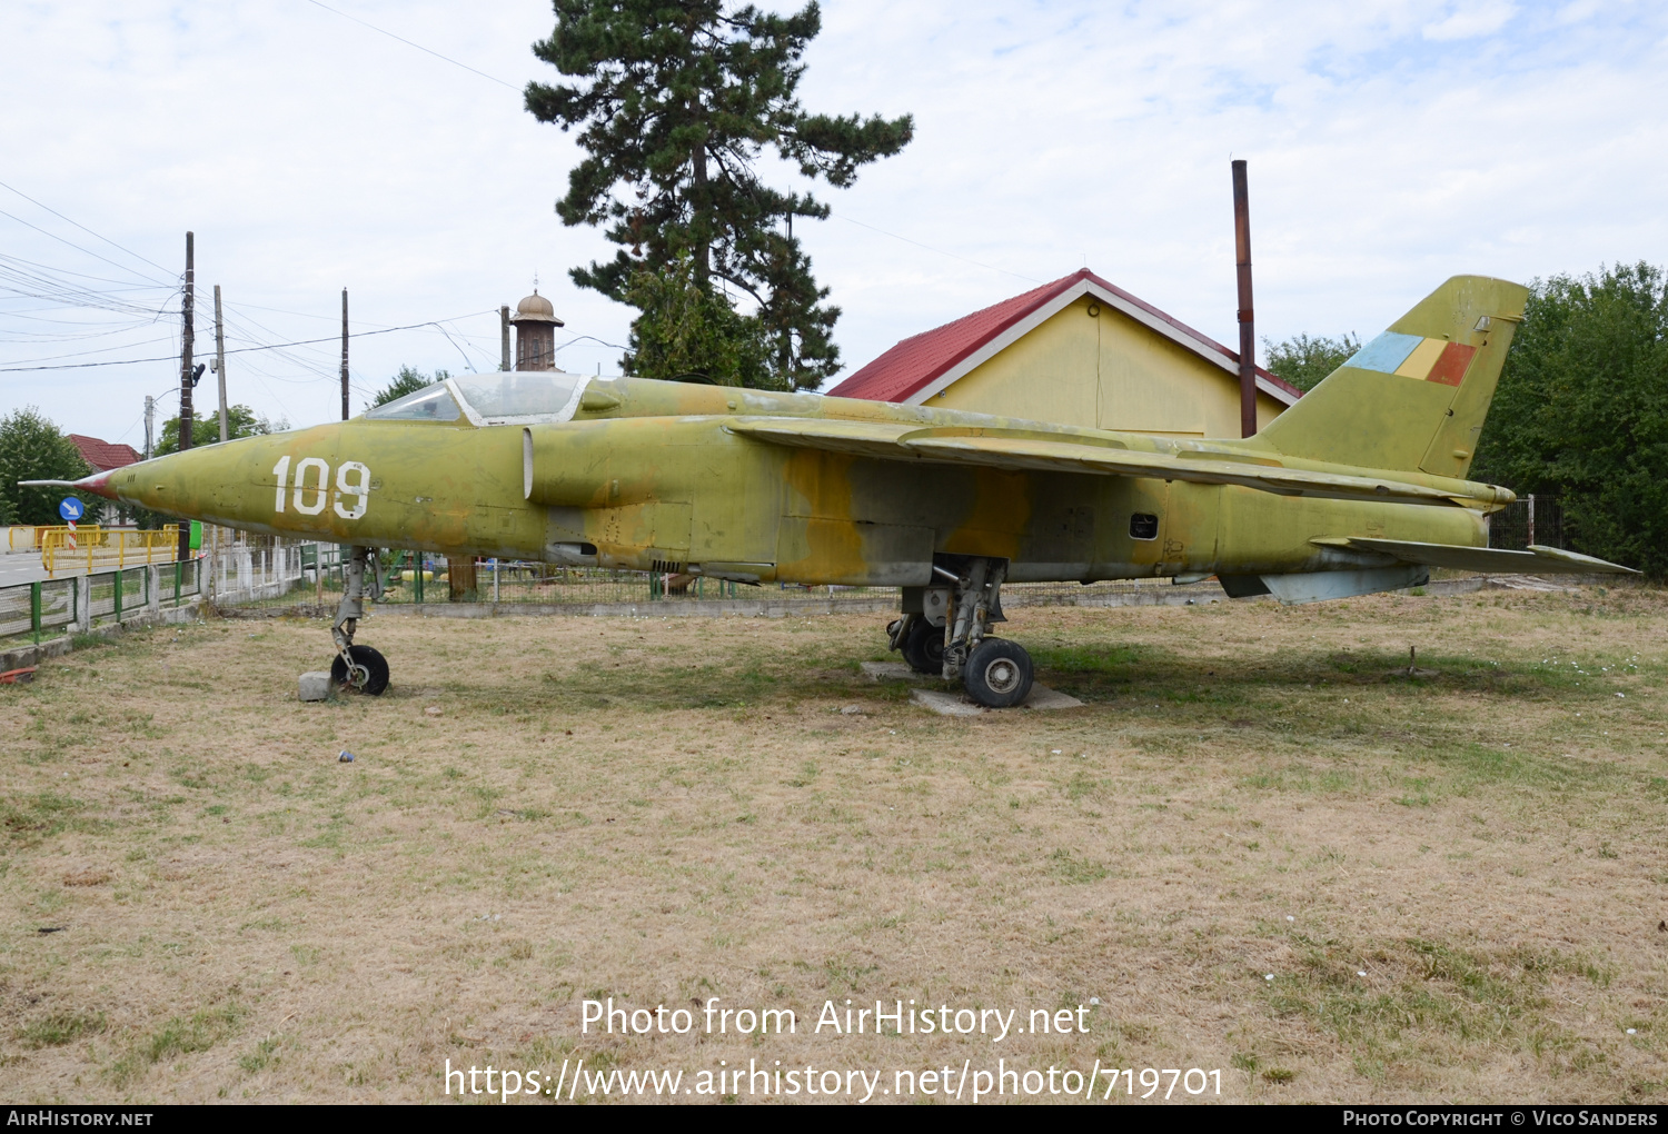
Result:
{"label": "lighter green bushy foliage at the foot of the tall conifer", "polygon": [[626,374],[667,382],[787,389],[771,374],[769,345],[756,319],[696,280],[686,255],[661,272],[642,268],[626,289],[642,315],[631,329]]}

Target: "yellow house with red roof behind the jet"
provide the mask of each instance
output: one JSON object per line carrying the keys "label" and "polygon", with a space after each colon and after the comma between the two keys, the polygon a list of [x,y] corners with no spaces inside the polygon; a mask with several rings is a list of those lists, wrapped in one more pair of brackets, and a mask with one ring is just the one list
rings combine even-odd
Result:
{"label": "yellow house with red roof behind the jet", "polygon": [[[1258,429],[1303,394],[1258,367]],[[1239,352],[1088,268],[904,339],[829,390],[1171,437],[1239,437]]]}

